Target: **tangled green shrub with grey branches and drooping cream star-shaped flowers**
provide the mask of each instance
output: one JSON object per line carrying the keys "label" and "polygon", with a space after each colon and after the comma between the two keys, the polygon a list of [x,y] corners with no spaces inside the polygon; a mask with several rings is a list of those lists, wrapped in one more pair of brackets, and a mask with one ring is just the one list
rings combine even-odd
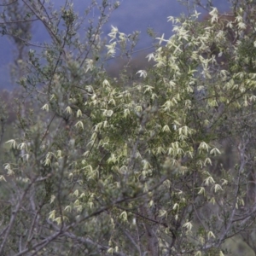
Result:
{"label": "tangled green shrub with grey branches and drooping cream star-shaped flowers", "polygon": [[[172,37],[155,38],[154,67],[133,80],[105,71],[116,55],[129,66],[137,44],[114,26],[101,37],[119,3],[93,1],[86,18],[68,1],[19,4],[3,1],[0,23],[28,49],[1,149],[0,254],[229,255],[234,236],[256,252],[253,1],[204,21],[168,17]],[[36,21],[51,38],[40,48],[24,26]]]}

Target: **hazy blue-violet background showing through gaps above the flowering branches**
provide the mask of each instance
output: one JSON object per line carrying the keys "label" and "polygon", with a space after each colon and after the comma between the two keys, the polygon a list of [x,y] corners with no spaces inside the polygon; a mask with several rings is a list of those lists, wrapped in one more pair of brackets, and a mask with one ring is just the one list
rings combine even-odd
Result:
{"label": "hazy blue-violet background showing through gaps above the flowering branches", "polygon": [[[56,9],[60,9],[61,5],[65,3],[64,0],[51,2],[55,4]],[[104,26],[104,32],[108,34],[111,25],[117,26],[120,32],[127,34],[134,31],[141,32],[137,49],[148,48],[152,45],[152,39],[147,35],[148,27],[154,29],[154,32],[159,35],[165,33],[166,38],[168,38],[172,35],[172,23],[167,22],[167,17],[187,13],[186,7],[178,3],[177,0],[122,0],[119,2],[119,8],[113,12],[108,24]],[[212,2],[220,12],[229,10],[227,0]],[[73,0],[73,7],[76,12],[79,12],[79,15],[83,15],[84,9],[89,3],[90,0]],[[204,13],[203,9],[198,9],[198,11]],[[43,44],[47,40],[49,38],[43,26],[35,24],[32,27],[32,42]],[[0,89],[13,90],[15,88],[15,84],[12,84],[9,76],[9,65],[13,59],[13,50],[14,46],[9,38],[0,36]]]}

